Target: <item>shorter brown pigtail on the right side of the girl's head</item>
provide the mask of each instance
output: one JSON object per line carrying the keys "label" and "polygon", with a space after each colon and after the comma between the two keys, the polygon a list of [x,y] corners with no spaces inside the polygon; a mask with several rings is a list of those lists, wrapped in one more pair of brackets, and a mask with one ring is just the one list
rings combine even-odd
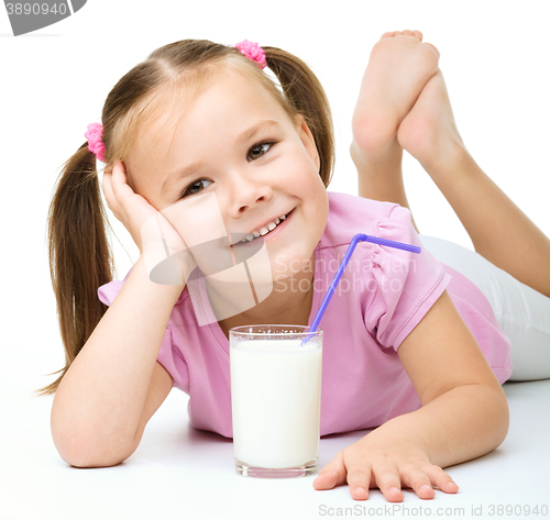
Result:
{"label": "shorter brown pigtail on the right side of the girl's head", "polygon": [[334,166],[334,136],[327,95],[314,71],[299,58],[277,47],[262,47],[267,67],[277,77],[294,110],[304,115],[319,152],[319,175],[327,187]]}

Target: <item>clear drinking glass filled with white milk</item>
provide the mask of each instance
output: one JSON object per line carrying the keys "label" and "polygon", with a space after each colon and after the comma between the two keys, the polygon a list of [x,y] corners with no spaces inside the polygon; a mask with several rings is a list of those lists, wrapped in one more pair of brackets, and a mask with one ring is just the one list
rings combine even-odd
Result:
{"label": "clear drinking glass filled with white milk", "polygon": [[237,473],[266,478],[317,473],[322,331],[238,327],[229,331],[229,345]]}

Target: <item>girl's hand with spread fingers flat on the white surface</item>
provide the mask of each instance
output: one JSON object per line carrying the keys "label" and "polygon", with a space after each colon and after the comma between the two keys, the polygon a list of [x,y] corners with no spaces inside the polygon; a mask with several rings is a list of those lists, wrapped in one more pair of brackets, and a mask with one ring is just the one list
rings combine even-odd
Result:
{"label": "girl's hand with spread fingers flat on the white surface", "polygon": [[366,500],[369,488],[380,488],[389,502],[403,500],[402,487],[414,489],[424,499],[436,496],[433,486],[444,493],[459,490],[443,469],[430,463],[425,450],[407,440],[386,436],[383,428],[339,452],[321,469],[314,487],[332,489],[344,483],[355,500]]}

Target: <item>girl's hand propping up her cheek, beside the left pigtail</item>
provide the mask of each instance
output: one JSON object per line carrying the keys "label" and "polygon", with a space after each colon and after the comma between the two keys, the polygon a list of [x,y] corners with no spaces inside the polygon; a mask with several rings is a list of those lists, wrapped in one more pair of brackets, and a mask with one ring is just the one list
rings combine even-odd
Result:
{"label": "girl's hand propping up her cheek, beside the left pigtail", "polygon": [[[121,161],[114,163],[112,173],[103,174],[103,192],[110,210],[145,256],[150,273],[167,255],[187,251],[184,240],[166,218],[127,184]],[[185,262],[190,264],[188,256]]]}

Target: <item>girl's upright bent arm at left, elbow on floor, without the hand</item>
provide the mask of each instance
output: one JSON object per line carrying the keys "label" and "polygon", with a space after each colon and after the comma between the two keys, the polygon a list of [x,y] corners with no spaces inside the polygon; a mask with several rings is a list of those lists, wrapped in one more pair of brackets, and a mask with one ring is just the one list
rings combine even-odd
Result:
{"label": "girl's upright bent arm at left, elbow on floor, without the hand", "polygon": [[112,466],[138,447],[172,388],[156,362],[182,286],[148,279],[141,258],[65,374],[52,408],[52,434],[74,466]]}

